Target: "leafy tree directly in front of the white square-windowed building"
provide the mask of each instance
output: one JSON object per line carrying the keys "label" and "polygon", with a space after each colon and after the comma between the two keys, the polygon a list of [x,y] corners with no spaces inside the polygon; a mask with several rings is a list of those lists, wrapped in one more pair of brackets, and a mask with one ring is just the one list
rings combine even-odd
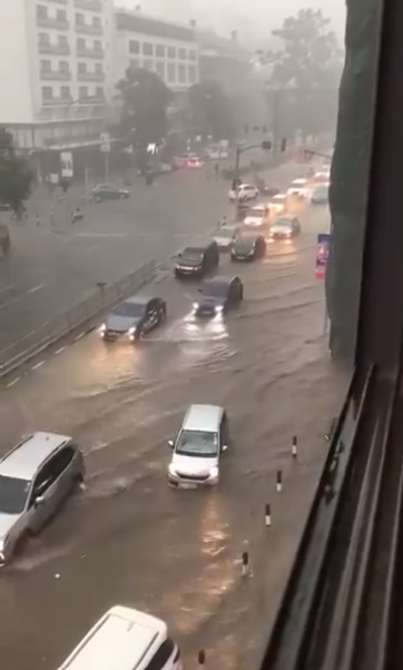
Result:
{"label": "leafy tree directly in front of the white square-windowed building", "polygon": [[144,68],[129,68],[117,85],[121,101],[120,134],[140,150],[160,144],[167,132],[167,109],[173,92],[158,77]]}

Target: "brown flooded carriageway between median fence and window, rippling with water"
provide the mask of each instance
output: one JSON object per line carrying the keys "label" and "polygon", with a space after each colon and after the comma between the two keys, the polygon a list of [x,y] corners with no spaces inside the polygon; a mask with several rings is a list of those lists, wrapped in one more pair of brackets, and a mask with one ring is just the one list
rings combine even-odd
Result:
{"label": "brown flooded carriageway between median fence and window, rippling with water", "polygon": [[[195,322],[196,287],[167,272],[147,288],[166,297],[167,323],[137,347],[92,333],[1,392],[2,451],[21,433],[58,431],[82,446],[88,469],[86,491],[0,575],[8,668],[55,670],[117,603],[166,619],[185,668],[199,649],[225,669],[259,658],[345,388],[328,362],[314,278],[328,214],[307,209],[302,224],[301,238],[272,245],[263,262],[223,263],[245,284],[225,322]],[[204,402],[229,415],[223,479],[216,491],[173,491],[167,441],[187,406]],[[245,548],[253,575],[243,580]]]}

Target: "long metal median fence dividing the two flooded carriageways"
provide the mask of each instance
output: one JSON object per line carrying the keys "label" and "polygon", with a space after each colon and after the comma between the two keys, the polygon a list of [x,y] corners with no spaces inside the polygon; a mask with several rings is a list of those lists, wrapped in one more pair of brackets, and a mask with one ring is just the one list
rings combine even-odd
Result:
{"label": "long metal median fence dividing the two flooded carriageways", "polygon": [[114,306],[119,299],[150,282],[157,265],[150,260],[137,270],[112,284],[100,285],[97,292],[56,315],[37,331],[32,331],[16,342],[12,346],[0,352],[0,378],[17,370],[20,365],[55,344],[76,328],[91,326],[92,319],[105,309]]}

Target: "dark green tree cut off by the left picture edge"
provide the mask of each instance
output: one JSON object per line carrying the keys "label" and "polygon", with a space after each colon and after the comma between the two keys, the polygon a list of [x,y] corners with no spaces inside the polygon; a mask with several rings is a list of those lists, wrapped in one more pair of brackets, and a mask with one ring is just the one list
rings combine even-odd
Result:
{"label": "dark green tree cut off by the left picture edge", "polygon": [[14,150],[11,132],[0,128],[0,203],[16,213],[29,197],[33,175]]}

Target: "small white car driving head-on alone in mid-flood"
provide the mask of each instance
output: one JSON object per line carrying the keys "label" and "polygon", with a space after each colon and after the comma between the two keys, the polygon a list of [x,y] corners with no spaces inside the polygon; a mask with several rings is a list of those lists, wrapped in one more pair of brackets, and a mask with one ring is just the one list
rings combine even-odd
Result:
{"label": "small white car driving head-on alone in mid-flood", "polygon": [[222,453],[228,449],[228,418],[223,407],[190,405],[176,440],[168,482],[176,489],[214,486],[219,481]]}

